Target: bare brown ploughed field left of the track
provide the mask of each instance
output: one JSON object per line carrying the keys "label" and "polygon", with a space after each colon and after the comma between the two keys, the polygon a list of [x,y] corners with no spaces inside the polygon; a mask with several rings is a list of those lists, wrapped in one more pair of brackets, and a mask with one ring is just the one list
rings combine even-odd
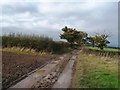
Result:
{"label": "bare brown ploughed field left of the track", "polygon": [[2,52],[2,84],[3,88],[12,85],[13,81],[35,70],[44,63],[55,58],[55,55],[39,55],[16,53],[3,50]]}

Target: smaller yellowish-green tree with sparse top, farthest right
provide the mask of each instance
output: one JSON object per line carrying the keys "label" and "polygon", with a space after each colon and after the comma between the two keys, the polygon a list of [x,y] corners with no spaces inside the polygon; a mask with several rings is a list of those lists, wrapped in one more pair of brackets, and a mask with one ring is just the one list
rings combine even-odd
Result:
{"label": "smaller yellowish-green tree with sparse top, farthest right", "polygon": [[104,47],[106,47],[107,44],[110,43],[107,40],[108,37],[109,37],[109,35],[107,35],[107,34],[101,34],[101,35],[96,35],[93,39],[94,39],[95,44],[97,45],[97,47],[100,48],[101,50],[103,50]]}

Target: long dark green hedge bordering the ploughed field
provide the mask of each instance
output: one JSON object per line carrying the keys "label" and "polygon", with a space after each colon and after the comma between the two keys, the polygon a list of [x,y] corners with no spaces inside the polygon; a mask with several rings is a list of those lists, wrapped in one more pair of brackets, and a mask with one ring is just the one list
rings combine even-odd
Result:
{"label": "long dark green hedge bordering the ploughed field", "polygon": [[2,46],[34,49],[37,52],[57,52],[62,46],[51,38],[35,35],[9,34],[2,36]]}

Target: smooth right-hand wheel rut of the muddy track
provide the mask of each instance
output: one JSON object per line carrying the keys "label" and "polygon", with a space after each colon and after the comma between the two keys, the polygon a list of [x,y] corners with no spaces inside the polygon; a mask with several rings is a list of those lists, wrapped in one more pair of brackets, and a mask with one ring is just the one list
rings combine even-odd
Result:
{"label": "smooth right-hand wheel rut of the muddy track", "polygon": [[72,55],[62,74],[59,76],[57,82],[53,85],[52,88],[69,88],[72,80],[73,65],[75,60],[77,59],[78,53],[79,52],[75,52]]}

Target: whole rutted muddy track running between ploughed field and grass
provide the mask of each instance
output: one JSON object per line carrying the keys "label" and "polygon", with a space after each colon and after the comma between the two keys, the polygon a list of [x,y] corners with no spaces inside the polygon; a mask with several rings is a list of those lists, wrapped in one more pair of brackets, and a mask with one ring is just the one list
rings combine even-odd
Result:
{"label": "whole rutted muddy track running between ploughed field and grass", "polygon": [[[80,49],[52,60],[28,73],[26,77],[11,88],[68,88],[72,79],[72,67]],[[64,76],[64,77],[63,77]],[[65,78],[67,77],[68,78]],[[62,79],[61,79],[61,78]],[[66,79],[66,80],[65,80]],[[66,84],[58,85],[58,82]]]}

